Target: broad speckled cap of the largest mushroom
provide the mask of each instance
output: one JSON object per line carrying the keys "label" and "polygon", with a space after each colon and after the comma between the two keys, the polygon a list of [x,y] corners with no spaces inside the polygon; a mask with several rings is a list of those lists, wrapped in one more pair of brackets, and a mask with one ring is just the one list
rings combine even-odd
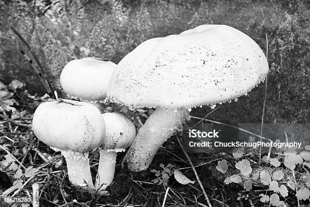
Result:
{"label": "broad speckled cap of the largest mushroom", "polygon": [[246,34],[201,25],[140,44],[118,64],[107,97],[137,108],[213,105],[246,94],[267,73],[264,53]]}

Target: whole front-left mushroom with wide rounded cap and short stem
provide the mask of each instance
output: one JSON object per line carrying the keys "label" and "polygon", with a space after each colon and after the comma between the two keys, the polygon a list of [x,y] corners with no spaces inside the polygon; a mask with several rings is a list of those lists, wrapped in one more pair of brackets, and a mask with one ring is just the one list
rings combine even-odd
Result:
{"label": "whole front-left mushroom with wide rounded cap and short stem", "polygon": [[88,153],[99,147],[105,136],[104,119],[96,107],[81,101],[49,100],[35,110],[32,130],[65,157],[73,185],[94,188]]}

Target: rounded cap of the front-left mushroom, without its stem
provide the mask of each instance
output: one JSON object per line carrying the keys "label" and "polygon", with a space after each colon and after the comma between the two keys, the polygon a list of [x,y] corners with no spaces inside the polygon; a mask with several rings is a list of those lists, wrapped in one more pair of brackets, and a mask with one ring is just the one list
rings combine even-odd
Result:
{"label": "rounded cap of the front-left mushroom, without its stem", "polygon": [[32,130],[50,147],[85,153],[102,144],[105,123],[99,110],[90,103],[57,99],[38,106]]}

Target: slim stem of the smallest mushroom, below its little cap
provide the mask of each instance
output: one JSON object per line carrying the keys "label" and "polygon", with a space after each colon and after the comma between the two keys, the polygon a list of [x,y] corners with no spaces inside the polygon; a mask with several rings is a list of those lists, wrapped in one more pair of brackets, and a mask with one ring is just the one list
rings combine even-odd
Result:
{"label": "slim stem of the smallest mushroom, below its little cap", "polygon": [[98,165],[98,174],[96,176],[95,188],[105,190],[114,178],[115,162],[117,152],[100,150],[100,159]]}

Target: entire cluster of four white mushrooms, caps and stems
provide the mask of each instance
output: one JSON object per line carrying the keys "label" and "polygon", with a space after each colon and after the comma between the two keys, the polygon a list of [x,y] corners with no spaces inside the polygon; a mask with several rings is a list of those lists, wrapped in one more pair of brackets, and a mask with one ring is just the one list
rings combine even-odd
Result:
{"label": "entire cluster of four white mushrooms, caps and stems", "polygon": [[[42,103],[34,113],[33,131],[61,151],[74,185],[104,190],[113,181],[117,152],[131,146],[124,165],[133,171],[146,169],[192,107],[238,98],[267,73],[264,53],[246,34],[226,25],[201,25],[147,40],[118,65],[89,57],[63,68],[60,83],[67,94],[156,108],[138,134],[123,115],[101,115],[90,103],[66,99]],[[93,185],[88,153],[95,148],[100,160]]]}

